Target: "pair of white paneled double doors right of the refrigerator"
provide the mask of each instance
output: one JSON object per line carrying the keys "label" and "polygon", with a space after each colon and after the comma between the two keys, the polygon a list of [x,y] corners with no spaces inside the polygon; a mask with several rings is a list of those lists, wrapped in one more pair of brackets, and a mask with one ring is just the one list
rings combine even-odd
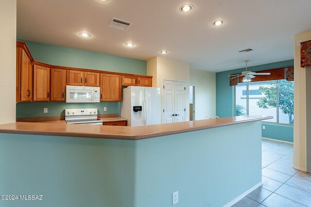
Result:
{"label": "pair of white paneled double doors right of the refrigerator", "polygon": [[185,121],[185,86],[182,81],[163,81],[163,123]]}

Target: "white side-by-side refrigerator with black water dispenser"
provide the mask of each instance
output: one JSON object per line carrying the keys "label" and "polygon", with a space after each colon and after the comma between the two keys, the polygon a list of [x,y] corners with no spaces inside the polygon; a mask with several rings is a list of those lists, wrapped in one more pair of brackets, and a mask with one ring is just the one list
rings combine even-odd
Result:
{"label": "white side-by-side refrigerator with black water dispenser", "polygon": [[122,89],[121,117],[127,119],[127,126],[161,124],[160,88]]}

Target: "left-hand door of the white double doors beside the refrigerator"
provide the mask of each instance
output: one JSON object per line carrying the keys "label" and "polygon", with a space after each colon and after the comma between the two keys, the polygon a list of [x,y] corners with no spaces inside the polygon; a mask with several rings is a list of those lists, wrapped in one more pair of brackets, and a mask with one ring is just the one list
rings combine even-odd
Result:
{"label": "left-hand door of the white double doors beside the refrigerator", "polygon": [[175,82],[163,81],[163,123],[175,122]]}

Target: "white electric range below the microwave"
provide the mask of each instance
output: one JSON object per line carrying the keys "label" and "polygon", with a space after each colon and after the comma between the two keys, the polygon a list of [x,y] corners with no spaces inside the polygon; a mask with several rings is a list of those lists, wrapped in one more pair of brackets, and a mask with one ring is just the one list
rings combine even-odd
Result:
{"label": "white electric range below the microwave", "polygon": [[103,120],[97,118],[97,109],[66,109],[67,124],[103,125]]}

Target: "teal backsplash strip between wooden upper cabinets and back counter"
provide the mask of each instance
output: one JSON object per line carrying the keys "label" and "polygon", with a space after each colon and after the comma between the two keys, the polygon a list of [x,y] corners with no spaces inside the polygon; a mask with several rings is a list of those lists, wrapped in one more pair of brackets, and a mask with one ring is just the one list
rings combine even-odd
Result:
{"label": "teal backsplash strip between wooden upper cabinets and back counter", "polygon": [[[107,107],[107,111],[104,111]],[[43,113],[43,108],[48,108]],[[16,117],[41,117],[41,116],[65,116],[65,109],[95,109],[98,114],[118,113],[120,115],[120,102],[101,103],[65,103],[65,102],[21,102],[16,104]]]}

